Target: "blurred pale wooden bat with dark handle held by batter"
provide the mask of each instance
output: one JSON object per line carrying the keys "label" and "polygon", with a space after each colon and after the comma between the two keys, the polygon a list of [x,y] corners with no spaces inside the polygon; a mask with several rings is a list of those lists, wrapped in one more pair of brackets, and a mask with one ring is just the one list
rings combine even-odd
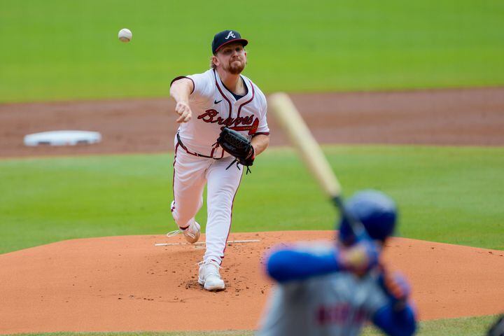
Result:
{"label": "blurred pale wooden bat with dark handle held by batter", "polygon": [[340,214],[350,223],[354,235],[356,237],[367,237],[362,223],[345,210],[341,185],[321,147],[306,123],[304,123],[292,100],[286,93],[279,92],[270,94],[268,101],[269,111],[274,114],[274,117],[301,155],[302,161],[309,169],[309,172],[315,176],[322,190],[330,197],[339,209]]}

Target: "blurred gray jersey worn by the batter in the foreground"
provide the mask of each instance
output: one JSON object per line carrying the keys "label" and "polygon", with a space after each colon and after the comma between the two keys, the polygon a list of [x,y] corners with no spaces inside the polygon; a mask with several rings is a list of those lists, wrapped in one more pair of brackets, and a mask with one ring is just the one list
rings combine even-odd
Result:
{"label": "blurred gray jersey worn by the batter in the foreground", "polygon": [[370,272],[335,272],[273,288],[259,336],[352,336],[388,300]]}

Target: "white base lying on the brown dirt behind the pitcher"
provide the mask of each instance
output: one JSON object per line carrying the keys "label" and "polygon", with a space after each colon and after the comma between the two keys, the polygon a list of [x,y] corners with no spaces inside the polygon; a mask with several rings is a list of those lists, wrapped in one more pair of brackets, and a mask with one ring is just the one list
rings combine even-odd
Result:
{"label": "white base lying on the brown dirt behind the pitcher", "polygon": [[52,131],[25,136],[25,146],[76,146],[96,144],[100,141],[102,141],[102,134],[89,131]]}

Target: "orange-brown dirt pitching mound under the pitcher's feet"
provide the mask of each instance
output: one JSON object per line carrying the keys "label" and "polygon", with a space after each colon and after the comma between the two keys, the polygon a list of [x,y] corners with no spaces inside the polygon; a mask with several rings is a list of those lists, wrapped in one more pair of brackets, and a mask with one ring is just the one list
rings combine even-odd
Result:
{"label": "orange-brown dirt pitching mound under the pitcher's feet", "polygon": [[[76,239],[0,255],[0,332],[240,330],[256,328],[272,284],[261,256],[279,241],[331,239],[331,231],[260,232],[230,244],[227,288],[197,284],[204,250],[181,237]],[[204,237],[202,237],[204,240]],[[504,252],[391,239],[385,259],[412,281],[422,319],[504,310]]]}

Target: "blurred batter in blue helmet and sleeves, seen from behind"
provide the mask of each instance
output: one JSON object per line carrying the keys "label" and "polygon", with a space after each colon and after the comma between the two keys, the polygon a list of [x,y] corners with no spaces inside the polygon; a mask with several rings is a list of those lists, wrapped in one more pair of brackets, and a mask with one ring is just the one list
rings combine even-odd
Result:
{"label": "blurred batter in blue helmet and sleeves, seen from behind", "polygon": [[414,334],[416,318],[405,278],[378,264],[395,225],[395,204],[368,190],[352,197],[346,209],[363,223],[367,238],[352,237],[349,223],[342,220],[336,247],[293,246],[269,256],[267,272],[278,286],[258,335],[352,336],[359,335],[366,321],[387,335]]}

